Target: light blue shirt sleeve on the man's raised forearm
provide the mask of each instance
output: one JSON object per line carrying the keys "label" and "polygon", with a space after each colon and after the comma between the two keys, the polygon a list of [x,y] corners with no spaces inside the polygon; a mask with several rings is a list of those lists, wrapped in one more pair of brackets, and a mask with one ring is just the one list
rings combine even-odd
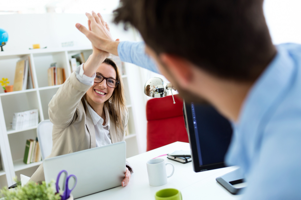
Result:
{"label": "light blue shirt sleeve on the man's raised forearm", "polygon": [[121,61],[160,73],[155,61],[145,54],[144,42],[123,41],[118,44],[117,51]]}

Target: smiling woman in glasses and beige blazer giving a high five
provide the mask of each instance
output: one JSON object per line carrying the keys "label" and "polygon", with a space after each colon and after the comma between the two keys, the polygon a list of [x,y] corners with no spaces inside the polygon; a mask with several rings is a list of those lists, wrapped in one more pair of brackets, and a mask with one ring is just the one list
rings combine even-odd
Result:
{"label": "smiling woman in glasses and beige blazer giving a high five", "polygon": [[[94,17],[99,22],[103,20],[97,15]],[[90,23],[88,25],[90,29]],[[105,23],[99,26],[110,36]],[[119,67],[107,58],[109,53],[92,47],[92,55],[71,73],[48,105],[49,119],[53,123],[49,157],[125,140],[129,115]],[[126,162],[123,187],[129,183],[132,173],[132,167]],[[45,180],[43,165],[30,180]]]}

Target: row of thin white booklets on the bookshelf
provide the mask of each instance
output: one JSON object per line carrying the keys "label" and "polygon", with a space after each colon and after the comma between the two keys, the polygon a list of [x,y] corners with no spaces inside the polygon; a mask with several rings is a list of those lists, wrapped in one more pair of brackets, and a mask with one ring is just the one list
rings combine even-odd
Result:
{"label": "row of thin white booklets on the bookshelf", "polygon": [[20,130],[28,127],[37,126],[39,123],[38,109],[24,112],[15,112],[13,116],[12,129]]}

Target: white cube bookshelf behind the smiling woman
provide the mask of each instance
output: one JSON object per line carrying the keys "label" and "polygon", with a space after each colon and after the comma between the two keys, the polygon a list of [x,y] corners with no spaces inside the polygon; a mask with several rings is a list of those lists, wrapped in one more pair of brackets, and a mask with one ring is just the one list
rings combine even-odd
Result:
{"label": "white cube bookshelf behind the smiling woman", "polygon": [[[18,60],[29,57],[33,73],[35,88],[22,91],[4,93],[0,90],[0,189],[3,186],[14,184],[13,178],[20,174],[31,176],[42,162],[24,164],[23,156],[26,139],[36,138],[36,126],[22,130],[13,130],[11,122],[14,112],[39,109],[39,122],[49,119],[48,103],[61,85],[48,86],[47,69],[50,63],[57,62],[58,67],[65,69],[66,79],[71,74],[69,60],[72,55],[83,52],[85,60],[92,53],[92,49],[59,48],[59,49],[33,49],[24,52],[0,52],[1,77],[8,78],[9,85],[14,82],[15,67]],[[127,64],[126,72],[129,72]],[[127,108],[129,110],[129,135],[126,135],[127,157],[138,154],[137,124],[132,111],[132,100],[128,75],[122,75],[125,86]]]}

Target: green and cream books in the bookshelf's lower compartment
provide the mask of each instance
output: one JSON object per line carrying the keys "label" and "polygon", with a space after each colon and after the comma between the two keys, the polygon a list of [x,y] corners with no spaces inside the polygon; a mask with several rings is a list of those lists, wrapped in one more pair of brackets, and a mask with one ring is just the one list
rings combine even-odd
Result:
{"label": "green and cream books in the bookshelf's lower compartment", "polygon": [[38,138],[26,140],[23,162],[25,164],[39,162],[42,160]]}

